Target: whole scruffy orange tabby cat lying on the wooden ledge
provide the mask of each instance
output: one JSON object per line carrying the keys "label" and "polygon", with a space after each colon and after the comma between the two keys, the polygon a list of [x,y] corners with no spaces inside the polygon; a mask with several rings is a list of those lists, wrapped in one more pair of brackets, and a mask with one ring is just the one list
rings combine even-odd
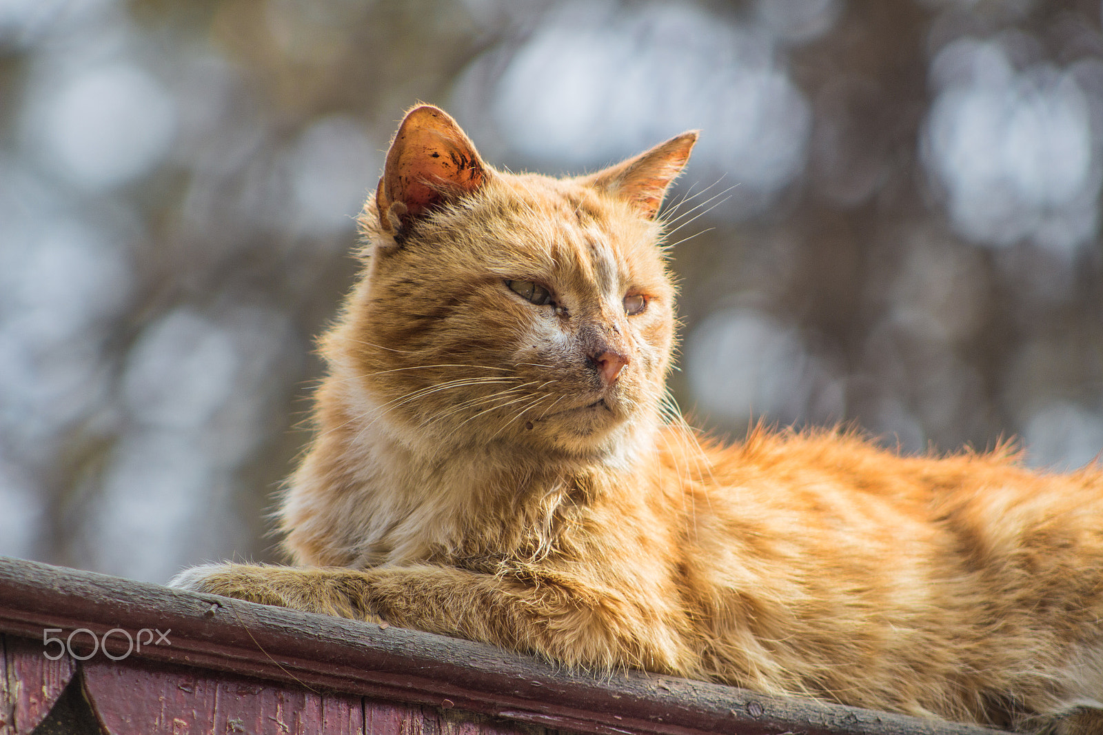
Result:
{"label": "whole scruffy orange tabby cat lying on the wooden ledge", "polygon": [[319,432],[281,514],[300,566],[175,584],[965,722],[1103,706],[1100,469],[831,432],[724,447],[664,409],[657,211],[696,138],[515,175],[413,109],[322,341]]}

